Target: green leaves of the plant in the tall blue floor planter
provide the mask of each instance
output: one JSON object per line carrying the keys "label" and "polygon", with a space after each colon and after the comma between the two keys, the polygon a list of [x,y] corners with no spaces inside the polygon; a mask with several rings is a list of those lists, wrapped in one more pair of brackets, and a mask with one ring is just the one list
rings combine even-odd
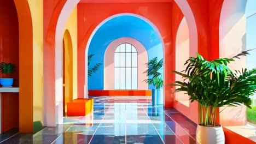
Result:
{"label": "green leaves of the plant in the tall blue floor planter", "polygon": [[158,61],[158,57],[154,57],[153,59],[150,59],[147,65],[147,70],[144,71],[143,74],[147,74],[149,79],[144,80],[144,82],[148,83],[149,85],[153,85],[156,87],[156,89],[160,89],[163,86],[163,80],[162,80],[162,74],[159,72],[159,70],[162,69],[162,59]]}

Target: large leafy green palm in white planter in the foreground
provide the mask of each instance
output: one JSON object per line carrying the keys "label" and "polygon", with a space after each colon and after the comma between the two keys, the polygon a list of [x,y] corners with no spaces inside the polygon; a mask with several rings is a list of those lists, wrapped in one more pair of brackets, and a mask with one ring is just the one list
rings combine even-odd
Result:
{"label": "large leafy green palm in white planter in the foreground", "polygon": [[232,58],[207,61],[197,53],[197,57],[190,57],[185,62],[187,67],[182,73],[172,71],[184,80],[171,84],[178,86],[175,92],[187,93],[191,103],[197,101],[201,106],[197,143],[225,143],[222,126],[215,123],[219,107],[244,104],[251,109],[249,96],[256,92],[256,69],[231,71],[227,67],[228,63],[248,54],[244,51]]}

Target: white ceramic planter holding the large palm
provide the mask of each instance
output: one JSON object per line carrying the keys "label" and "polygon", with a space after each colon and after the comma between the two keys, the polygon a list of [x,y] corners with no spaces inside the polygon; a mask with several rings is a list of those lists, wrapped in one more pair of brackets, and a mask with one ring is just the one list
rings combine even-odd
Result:
{"label": "white ceramic planter holding the large palm", "polygon": [[197,125],[196,143],[225,144],[225,135],[222,126],[219,125],[219,127],[204,127]]}

